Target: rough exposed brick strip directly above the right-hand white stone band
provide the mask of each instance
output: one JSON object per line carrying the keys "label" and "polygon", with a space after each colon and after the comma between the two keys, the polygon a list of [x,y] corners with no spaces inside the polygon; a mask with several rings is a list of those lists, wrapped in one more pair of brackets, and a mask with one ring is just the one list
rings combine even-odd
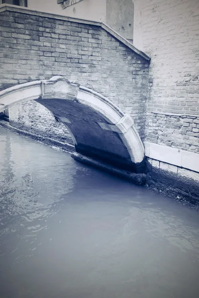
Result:
{"label": "rough exposed brick strip directly above the right-hand white stone band", "polygon": [[199,116],[148,113],[145,140],[199,153]]}

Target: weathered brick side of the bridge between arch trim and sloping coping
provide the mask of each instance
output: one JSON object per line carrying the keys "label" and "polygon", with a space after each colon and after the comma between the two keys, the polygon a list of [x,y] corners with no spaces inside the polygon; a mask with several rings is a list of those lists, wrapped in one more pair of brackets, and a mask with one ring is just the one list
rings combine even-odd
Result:
{"label": "weathered brick side of the bridge between arch trim and sloping coping", "polygon": [[[148,62],[99,26],[36,14],[0,13],[0,88],[64,75],[129,113],[143,138]],[[15,125],[30,127],[38,114],[43,124],[48,123],[38,104],[29,113],[31,104],[18,106]]]}

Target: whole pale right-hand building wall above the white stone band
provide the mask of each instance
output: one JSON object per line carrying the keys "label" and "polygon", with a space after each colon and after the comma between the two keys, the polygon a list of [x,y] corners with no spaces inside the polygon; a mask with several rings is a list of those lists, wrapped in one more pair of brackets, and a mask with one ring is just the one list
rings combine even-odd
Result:
{"label": "whole pale right-hand building wall above the white stone band", "polygon": [[134,0],[134,12],[151,57],[146,141],[199,153],[199,1]]}

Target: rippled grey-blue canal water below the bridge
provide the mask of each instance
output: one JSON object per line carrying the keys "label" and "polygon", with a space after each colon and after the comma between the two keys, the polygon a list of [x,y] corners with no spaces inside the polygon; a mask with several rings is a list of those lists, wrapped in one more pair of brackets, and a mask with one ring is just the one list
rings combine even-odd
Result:
{"label": "rippled grey-blue canal water below the bridge", "polygon": [[0,298],[188,297],[197,210],[0,127]]}

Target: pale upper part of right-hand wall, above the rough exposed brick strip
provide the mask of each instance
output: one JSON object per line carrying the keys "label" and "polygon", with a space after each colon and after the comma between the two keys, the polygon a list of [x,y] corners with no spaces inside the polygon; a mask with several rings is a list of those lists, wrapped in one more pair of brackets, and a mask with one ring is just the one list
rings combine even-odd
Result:
{"label": "pale upper part of right-hand wall, above the rough exposed brick strip", "polygon": [[134,6],[134,43],[151,57],[147,110],[199,115],[199,0]]}

